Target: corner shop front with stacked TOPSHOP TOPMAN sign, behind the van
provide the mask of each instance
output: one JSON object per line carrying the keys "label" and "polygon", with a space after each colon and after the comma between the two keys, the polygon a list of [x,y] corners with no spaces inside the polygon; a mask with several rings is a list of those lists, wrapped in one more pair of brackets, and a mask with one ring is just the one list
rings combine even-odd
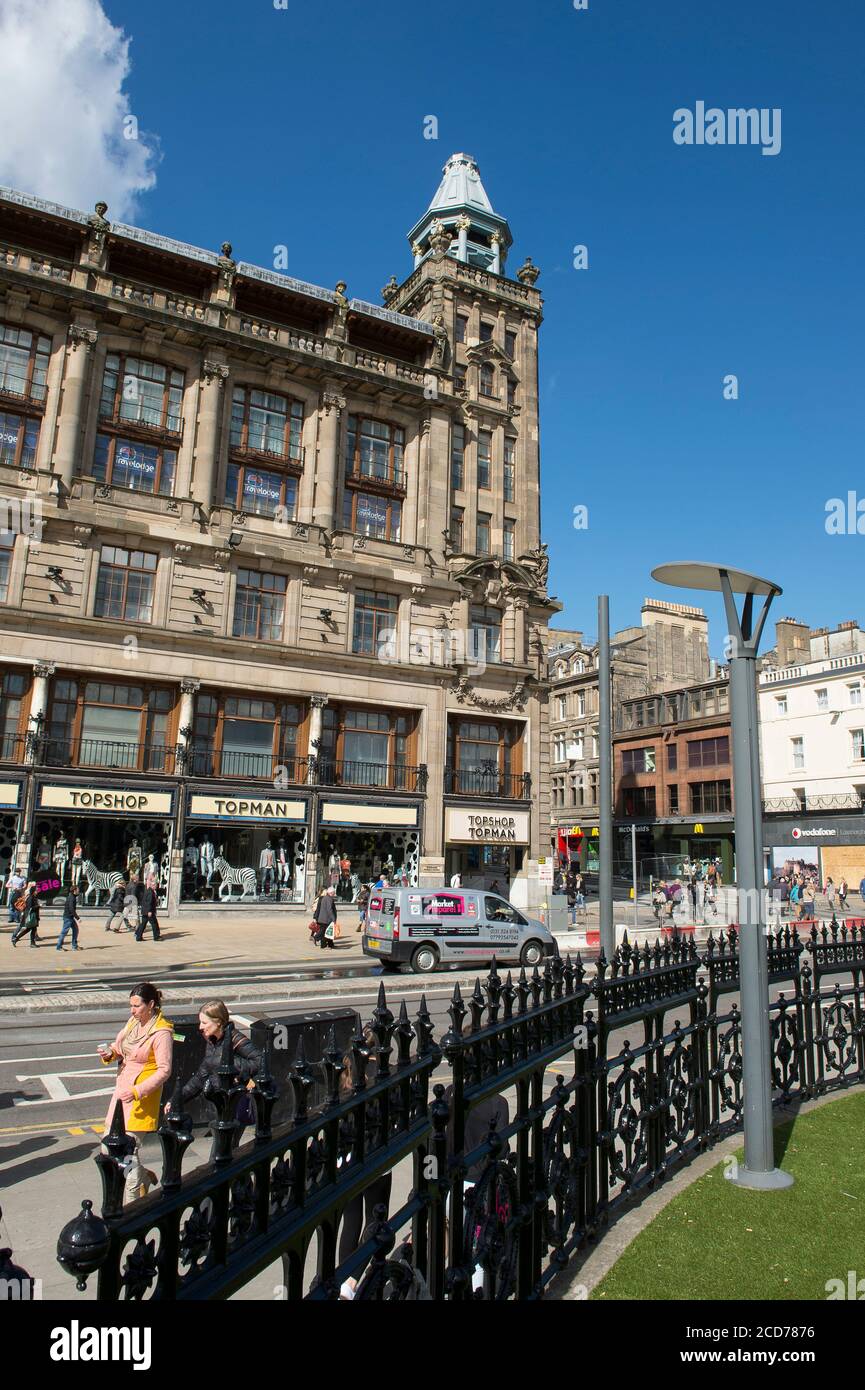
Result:
{"label": "corner shop front with stacked TOPSHOP TOPMAN sign, behind the van", "polygon": [[[445,883],[459,873],[463,888],[512,895],[528,852],[528,812],[501,806],[445,808]],[[519,892],[517,892],[519,897]]]}

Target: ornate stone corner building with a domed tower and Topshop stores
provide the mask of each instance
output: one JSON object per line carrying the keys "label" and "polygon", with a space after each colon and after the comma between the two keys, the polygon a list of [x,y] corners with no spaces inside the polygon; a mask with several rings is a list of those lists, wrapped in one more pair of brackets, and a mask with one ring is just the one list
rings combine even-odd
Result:
{"label": "ornate stone corner building with a domed tower and Topshop stores", "polygon": [[387,307],[107,211],[0,190],[0,869],[533,906],[541,296],[477,165]]}

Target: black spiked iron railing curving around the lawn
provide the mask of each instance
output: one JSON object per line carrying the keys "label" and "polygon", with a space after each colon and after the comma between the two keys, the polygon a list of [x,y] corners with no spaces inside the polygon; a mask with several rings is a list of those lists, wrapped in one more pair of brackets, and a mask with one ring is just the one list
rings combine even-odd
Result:
{"label": "black spiked iron railing curving around the lawn", "polygon": [[[299,1047],[288,1073],[293,1120],[275,1133],[266,1049],[252,1093],[254,1138],[239,1150],[232,1140],[248,1093],[228,1037],[210,1093],[210,1163],[182,1173],[193,1136],[178,1081],[160,1130],[161,1191],[122,1208],[132,1141],[118,1104],[96,1158],[102,1218],[85,1201],[58,1258],[79,1289],[99,1272],[102,1301],[225,1298],[280,1258],[288,1300],[335,1300],[348,1277],[362,1300],[420,1290],[453,1302],[538,1298],[624,1204],[741,1125],[741,1016],[725,1005],[738,990],[737,945],[733,929],[709,938],[704,956],[679,937],[642,949],[626,942],[611,965],[601,958],[591,984],[579,958],[547,960],[531,979],[522,970],[516,983],[494,962],[467,1004],[455,987],[439,1041],[424,999],[412,1023],[405,1002],[394,1016],[382,986],[346,1054],[331,1033],[327,1094],[314,1112],[313,1069]],[[768,963],[770,986],[784,986],[770,1004],[775,1102],[864,1083],[865,920],[815,927],[807,941],[779,931]],[[832,976],[851,983],[823,987]],[[623,1029],[642,1042],[616,1051]],[[569,1076],[545,1094],[556,1061]],[[448,1090],[432,1084],[442,1062]],[[495,1118],[471,1126],[490,1102]],[[389,1215],[378,1207],[338,1262],[346,1207],[401,1165],[407,1198]],[[318,1269],[306,1283],[316,1234]]]}

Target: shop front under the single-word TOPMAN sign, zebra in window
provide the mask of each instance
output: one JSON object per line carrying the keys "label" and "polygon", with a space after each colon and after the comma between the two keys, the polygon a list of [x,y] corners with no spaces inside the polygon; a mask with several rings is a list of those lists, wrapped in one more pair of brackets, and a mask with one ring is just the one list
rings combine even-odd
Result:
{"label": "shop front under the single-word TOPMAN sign, zebra in window", "polygon": [[182,903],[303,902],[309,801],[246,791],[189,791]]}

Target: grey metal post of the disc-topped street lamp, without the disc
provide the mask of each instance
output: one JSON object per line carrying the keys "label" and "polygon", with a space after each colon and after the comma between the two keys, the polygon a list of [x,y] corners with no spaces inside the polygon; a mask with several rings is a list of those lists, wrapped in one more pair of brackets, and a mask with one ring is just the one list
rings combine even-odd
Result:
{"label": "grey metal post of the disc-topped street lamp, without the disc", "polygon": [[[738,977],[741,992],[743,1118],[745,1162],[733,1180],[743,1187],[789,1187],[793,1179],[775,1166],[770,1086],[769,967],[762,923],[762,803],[757,724],[757,641],[751,609],[738,624],[731,592],[725,591],[736,638],[730,657],[730,720],[736,796],[736,884],[738,899]],[[759,639],[759,638],[758,638]]]}

